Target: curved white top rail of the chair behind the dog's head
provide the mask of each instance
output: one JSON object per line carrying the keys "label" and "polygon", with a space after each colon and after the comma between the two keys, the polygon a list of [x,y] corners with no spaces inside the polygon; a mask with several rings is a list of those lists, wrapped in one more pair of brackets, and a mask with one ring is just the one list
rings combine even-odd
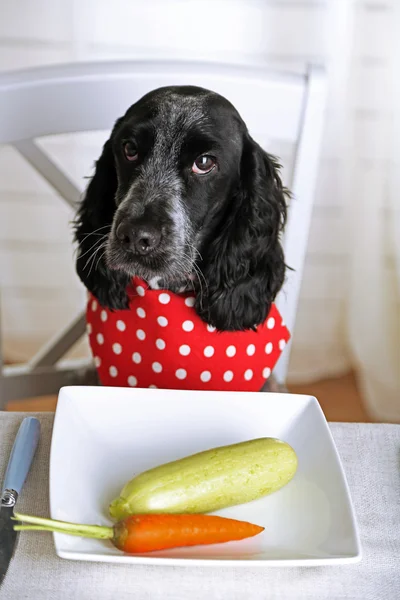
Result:
{"label": "curved white top rail of the chair behind the dog's head", "polygon": [[297,138],[301,75],[214,63],[125,62],[0,75],[0,144],[110,129],[141,96],[166,85],[197,85],[224,95],[254,136]]}

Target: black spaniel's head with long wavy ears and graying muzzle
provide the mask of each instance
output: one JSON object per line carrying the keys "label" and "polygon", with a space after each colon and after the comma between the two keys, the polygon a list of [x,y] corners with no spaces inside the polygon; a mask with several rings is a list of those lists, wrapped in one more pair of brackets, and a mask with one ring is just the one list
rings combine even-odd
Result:
{"label": "black spaniel's head with long wavy ears and graying muzzle", "polygon": [[235,108],[197,87],[155,90],[118,119],[76,220],[77,272],[109,308],[133,275],[196,289],[219,330],[262,323],[282,287],[287,191]]}

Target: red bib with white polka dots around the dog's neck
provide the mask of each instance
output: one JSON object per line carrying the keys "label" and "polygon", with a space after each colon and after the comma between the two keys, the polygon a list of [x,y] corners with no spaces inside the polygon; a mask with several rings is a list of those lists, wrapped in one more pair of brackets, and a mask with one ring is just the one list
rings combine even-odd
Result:
{"label": "red bib with white polka dots around the dog's neck", "polygon": [[256,331],[218,332],[195,312],[192,292],[152,290],[135,278],[129,309],[89,295],[89,343],[103,385],[259,391],[289,332],[275,305]]}

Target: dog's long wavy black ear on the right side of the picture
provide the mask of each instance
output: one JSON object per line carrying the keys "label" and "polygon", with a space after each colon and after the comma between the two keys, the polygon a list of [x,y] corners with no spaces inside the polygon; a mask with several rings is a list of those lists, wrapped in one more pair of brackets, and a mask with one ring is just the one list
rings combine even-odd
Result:
{"label": "dog's long wavy black ear on the right side of the picture", "polygon": [[205,284],[196,310],[218,330],[253,329],[266,319],[285,278],[287,197],[278,163],[247,136],[240,183],[202,252]]}

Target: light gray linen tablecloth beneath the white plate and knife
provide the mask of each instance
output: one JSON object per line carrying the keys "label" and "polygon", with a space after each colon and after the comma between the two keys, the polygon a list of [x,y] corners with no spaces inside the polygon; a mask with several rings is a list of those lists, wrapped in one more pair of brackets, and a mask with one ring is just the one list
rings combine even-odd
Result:
{"label": "light gray linen tablecloth beneath the white plate and knife", "polygon": [[[0,478],[25,415],[0,413]],[[42,435],[19,510],[49,515],[53,415]],[[356,565],[232,569],[112,565],[62,560],[52,536],[21,535],[0,588],[3,600],[397,600],[400,598],[400,425],[332,424],[363,546]],[[79,499],[78,499],[79,501]]]}

